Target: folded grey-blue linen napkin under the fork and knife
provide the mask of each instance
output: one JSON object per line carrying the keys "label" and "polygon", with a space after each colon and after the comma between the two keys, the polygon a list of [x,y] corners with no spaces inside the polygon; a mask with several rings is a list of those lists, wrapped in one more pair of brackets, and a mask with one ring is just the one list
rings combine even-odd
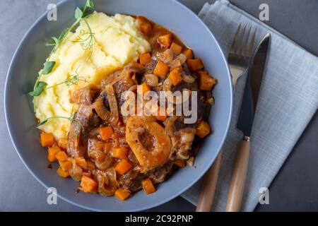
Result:
{"label": "folded grey-blue linen napkin under the fork and knife", "polygon": [[[259,203],[259,189],[271,184],[317,111],[318,58],[226,0],[216,1],[213,5],[205,4],[199,17],[211,29],[225,55],[228,55],[240,23],[257,27],[257,40],[271,32],[271,47],[254,118],[252,149],[242,203],[243,211],[252,211]],[[242,138],[236,124],[245,81],[246,76],[237,82],[235,88],[232,121],[223,147],[223,161],[212,208],[214,211],[224,211],[226,206],[232,164]],[[196,204],[200,184],[196,183],[182,197]]]}

